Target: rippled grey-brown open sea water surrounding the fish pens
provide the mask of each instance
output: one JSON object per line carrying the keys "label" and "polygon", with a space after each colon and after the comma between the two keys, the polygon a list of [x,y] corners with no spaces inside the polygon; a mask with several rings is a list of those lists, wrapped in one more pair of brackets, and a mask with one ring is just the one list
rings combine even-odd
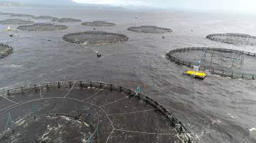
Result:
{"label": "rippled grey-brown open sea water surrounding the fish pens", "polygon": [[[78,23],[63,23],[63,31],[18,31],[10,38],[0,25],[0,42],[14,53],[0,59],[0,87],[19,87],[68,80],[104,81],[142,92],[170,109],[200,142],[256,142],[256,82],[209,75],[204,81],[185,77],[185,66],[168,61],[166,51],[188,46],[211,46],[256,52],[255,46],[221,44],[206,39],[214,33],[256,35],[256,16],[189,12],[119,11],[105,9],[0,8],[3,12],[104,20],[116,26],[97,30],[117,32],[129,40],[108,46],[81,46],[63,41],[70,32],[92,30]],[[138,19],[134,19],[138,16]],[[0,16],[9,19],[10,16]],[[22,18],[27,19],[27,18]],[[36,22],[51,22],[36,20]],[[129,26],[155,25],[171,34],[142,34]],[[16,25],[11,25],[17,28]],[[193,32],[191,32],[193,29]],[[103,56],[97,58],[93,51]],[[189,56],[189,55],[188,55]],[[256,59],[255,59],[256,60]],[[254,63],[255,64],[255,63]],[[256,74],[256,73],[254,73]]]}

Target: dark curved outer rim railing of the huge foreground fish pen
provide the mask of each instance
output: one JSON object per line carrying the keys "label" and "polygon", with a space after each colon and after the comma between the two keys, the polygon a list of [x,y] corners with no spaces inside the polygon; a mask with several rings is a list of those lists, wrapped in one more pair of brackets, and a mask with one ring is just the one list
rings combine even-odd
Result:
{"label": "dark curved outer rim railing of the huge foreground fish pen", "polygon": [[[157,112],[160,112],[160,114],[165,117],[166,121],[170,122],[170,126],[172,126],[175,129],[175,132],[177,134],[183,134],[183,142],[186,143],[192,143],[192,142],[198,142],[196,137],[194,137],[193,134],[187,131],[186,127],[176,118],[173,114],[169,112],[168,109],[165,109],[163,105],[159,104],[156,102],[154,99],[150,99],[150,97],[145,96],[145,94],[142,93],[137,93],[133,91],[132,89],[128,89],[126,87],[121,87],[121,86],[116,86],[114,84],[107,84],[104,82],[93,82],[93,81],[88,81],[88,82],[78,82],[78,81],[69,81],[69,82],[50,82],[46,84],[35,84],[32,86],[28,87],[18,87],[18,88],[13,88],[13,89],[6,89],[2,90],[0,92],[0,95],[3,97],[9,97],[17,93],[24,93],[28,91],[38,91],[40,88],[44,89],[50,89],[50,88],[60,88],[60,87],[65,87],[65,88],[72,88],[73,86],[77,87],[96,87],[99,89],[108,89],[110,91],[116,91],[116,92],[124,92],[125,94],[129,94],[129,96],[133,98],[137,98],[140,101],[145,102],[145,104],[150,104],[152,107],[155,108]],[[136,96],[134,96],[136,95]],[[53,98],[58,98],[58,97],[53,97]],[[61,97],[59,97],[61,98]],[[24,104],[24,103],[21,103]],[[93,107],[97,107],[94,104],[88,103]],[[9,111],[9,109],[14,108],[17,106],[17,104],[11,105],[9,107],[5,107],[4,109],[0,110],[0,114],[6,113]],[[110,121],[111,122],[111,121]]]}

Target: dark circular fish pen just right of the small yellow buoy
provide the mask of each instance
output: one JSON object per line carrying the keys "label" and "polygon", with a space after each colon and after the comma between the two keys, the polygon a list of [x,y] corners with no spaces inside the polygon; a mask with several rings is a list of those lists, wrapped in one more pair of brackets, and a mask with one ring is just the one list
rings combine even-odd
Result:
{"label": "dark circular fish pen just right of the small yellow buoy", "polygon": [[23,31],[55,31],[68,29],[68,26],[58,24],[32,24],[18,26],[17,29]]}

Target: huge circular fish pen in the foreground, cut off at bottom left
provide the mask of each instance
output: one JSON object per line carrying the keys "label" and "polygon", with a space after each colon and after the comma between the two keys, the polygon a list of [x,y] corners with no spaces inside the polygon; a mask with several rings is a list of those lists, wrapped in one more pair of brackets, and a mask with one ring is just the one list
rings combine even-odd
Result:
{"label": "huge circular fish pen in the foreground, cut off at bottom left", "polygon": [[0,92],[0,142],[197,142],[161,104],[104,82]]}

